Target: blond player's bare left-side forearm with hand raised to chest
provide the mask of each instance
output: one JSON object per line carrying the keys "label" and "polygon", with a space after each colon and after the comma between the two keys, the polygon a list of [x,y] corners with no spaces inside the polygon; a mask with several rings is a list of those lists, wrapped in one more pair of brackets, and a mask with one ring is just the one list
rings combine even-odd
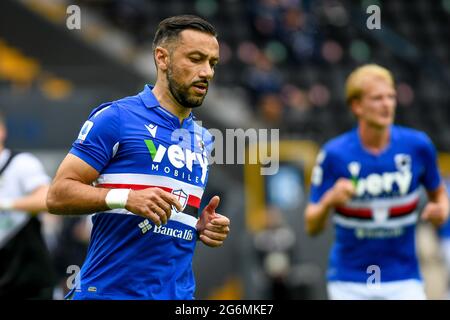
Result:
{"label": "blond player's bare left-side forearm with hand raised to chest", "polygon": [[324,228],[331,208],[345,204],[355,192],[349,179],[340,178],[318,203],[309,203],[305,209],[305,228],[309,235],[317,235]]}

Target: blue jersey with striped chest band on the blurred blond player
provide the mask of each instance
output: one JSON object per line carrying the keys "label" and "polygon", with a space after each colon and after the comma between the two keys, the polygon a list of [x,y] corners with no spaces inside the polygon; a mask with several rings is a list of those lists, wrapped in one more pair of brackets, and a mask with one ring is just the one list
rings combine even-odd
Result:
{"label": "blue jersey with striped chest band on the blurred blond player", "polygon": [[366,282],[420,279],[415,248],[420,186],[440,184],[436,151],[419,131],[392,126],[390,143],[379,155],[367,152],[357,129],[328,142],[312,175],[311,201],[341,177],[352,179],[356,195],[335,208],[336,239],[328,279]]}

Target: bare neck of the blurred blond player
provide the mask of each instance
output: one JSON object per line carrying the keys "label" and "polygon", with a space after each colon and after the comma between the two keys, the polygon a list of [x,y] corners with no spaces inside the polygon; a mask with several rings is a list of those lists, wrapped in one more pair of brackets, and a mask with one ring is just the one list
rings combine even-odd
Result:
{"label": "bare neck of the blurred blond player", "polygon": [[381,153],[388,145],[390,127],[377,128],[364,123],[358,126],[358,134],[365,149],[374,154]]}

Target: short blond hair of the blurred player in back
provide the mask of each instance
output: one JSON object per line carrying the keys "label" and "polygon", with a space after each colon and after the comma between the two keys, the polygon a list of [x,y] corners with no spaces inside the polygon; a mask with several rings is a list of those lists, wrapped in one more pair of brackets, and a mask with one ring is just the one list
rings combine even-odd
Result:
{"label": "short blond hair of the blurred player in back", "polygon": [[361,98],[368,78],[382,79],[394,87],[394,77],[388,69],[377,64],[365,64],[353,70],[345,82],[345,98],[349,106],[353,100]]}

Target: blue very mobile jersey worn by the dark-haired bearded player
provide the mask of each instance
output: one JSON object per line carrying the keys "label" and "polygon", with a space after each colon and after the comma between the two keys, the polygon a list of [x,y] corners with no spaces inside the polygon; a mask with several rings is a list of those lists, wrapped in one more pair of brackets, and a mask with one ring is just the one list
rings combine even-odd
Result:
{"label": "blue very mobile jersey worn by the dark-haired bearded player", "polygon": [[180,125],[149,86],[91,113],[70,152],[100,173],[96,186],[158,187],[183,210],[173,209],[161,227],[125,209],[96,213],[74,299],[193,299],[195,225],[211,141],[192,115]]}

